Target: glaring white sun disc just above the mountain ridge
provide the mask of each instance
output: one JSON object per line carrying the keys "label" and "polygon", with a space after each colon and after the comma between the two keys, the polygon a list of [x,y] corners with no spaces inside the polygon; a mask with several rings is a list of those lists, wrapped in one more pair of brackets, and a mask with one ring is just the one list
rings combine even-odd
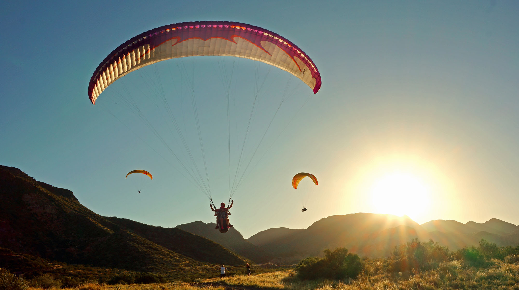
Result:
{"label": "glaring white sun disc just above the mountain ridge", "polygon": [[370,194],[377,213],[419,219],[429,211],[430,186],[413,173],[386,173],[372,184]]}

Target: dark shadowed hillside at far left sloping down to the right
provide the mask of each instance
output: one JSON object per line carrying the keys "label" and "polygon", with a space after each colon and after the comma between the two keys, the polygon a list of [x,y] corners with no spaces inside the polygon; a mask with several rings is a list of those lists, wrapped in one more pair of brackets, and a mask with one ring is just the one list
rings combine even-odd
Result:
{"label": "dark shadowed hillside at far left sloping down to the right", "polygon": [[243,265],[220,244],[92,212],[65,189],[0,166],[0,247],[69,264],[170,271],[204,263]]}

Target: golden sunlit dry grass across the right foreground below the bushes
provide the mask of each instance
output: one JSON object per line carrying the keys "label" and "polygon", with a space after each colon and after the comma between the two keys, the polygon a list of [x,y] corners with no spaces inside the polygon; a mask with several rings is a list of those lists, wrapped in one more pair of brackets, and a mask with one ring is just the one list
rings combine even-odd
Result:
{"label": "golden sunlit dry grass across the right foreground below the bushes", "polygon": [[459,261],[440,265],[438,269],[414,273],[363,272],[348,281],[301,281],[294,270],[207,279],[204,283],[224,283],[251,288],[280,290],[397,290],[397,289],[515,289],[519,290],[519,265],[500,260],[486,269],[463,269]]}

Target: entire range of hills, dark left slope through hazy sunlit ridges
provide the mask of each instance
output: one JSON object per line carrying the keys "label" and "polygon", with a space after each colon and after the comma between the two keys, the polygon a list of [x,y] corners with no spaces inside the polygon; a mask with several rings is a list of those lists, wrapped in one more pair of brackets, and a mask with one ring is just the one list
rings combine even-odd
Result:
{"label": "entire range of hills, dark left slope through hazy sunlit ridges", "polygon": [[201,221],[156,227],[96,214],[71,191],[6,166],[0,166],[0,200],[0,247],[18,256],[42,258],[47,262],[41,263],[49,265],[56,260],[175,275],[195,266],[213,271],[207,264],[243,265],[244,257],[291,264],[336,247],[361,256],[388,256],[394,246],[413,238],[433,239],[450,250],[477,245],[481,239],[499,246],[519,244],[519,227],[498,219],[419,225],[407,216],[373,213],[333,215],[307,229],[267,229],[249,240],[234,228],[221,234],[215,224]]}

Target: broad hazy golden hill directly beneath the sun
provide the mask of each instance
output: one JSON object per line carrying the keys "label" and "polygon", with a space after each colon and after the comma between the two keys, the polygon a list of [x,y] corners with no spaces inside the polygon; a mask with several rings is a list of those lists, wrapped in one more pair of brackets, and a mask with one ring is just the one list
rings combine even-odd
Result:
{"label": "broad hazy golden hill directly beneath the sun", "polygon": [[284,235],[271,235],[270,241],[264,234],[255,238],[262,241],[260,248],[271,252],[281,262],[292,263],[337,247],[364,256],[383,256],[389,254],[395,245],[415,237],[425,237],[427,232],[407,216],[354,213],[329,216],[305,230],[281,230],[281,234]]}

